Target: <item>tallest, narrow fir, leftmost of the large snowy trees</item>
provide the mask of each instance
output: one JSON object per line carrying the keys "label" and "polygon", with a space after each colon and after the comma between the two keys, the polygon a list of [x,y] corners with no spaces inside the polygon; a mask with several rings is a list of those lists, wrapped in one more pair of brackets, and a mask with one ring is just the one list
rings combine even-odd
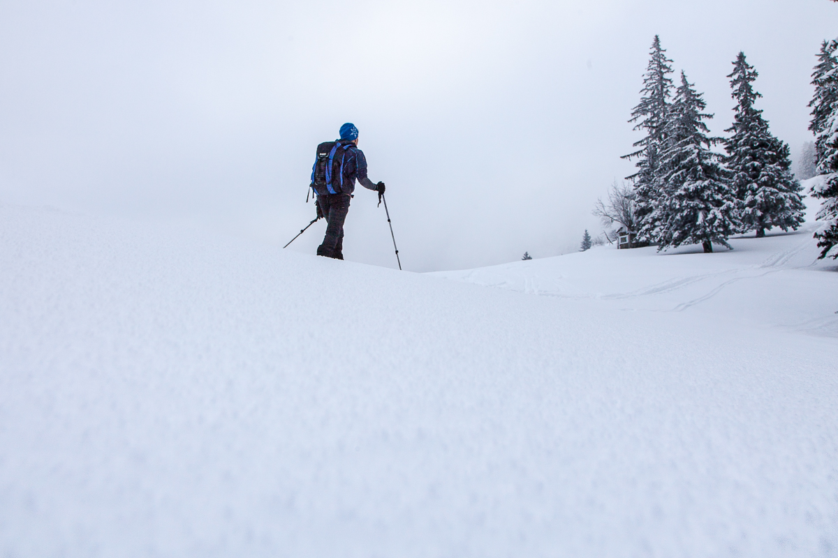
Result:
{"label": "tallest, narrow fir, leftmost of the large snowy trees", "polygon": [[646,136],[634,143],[639,148],[623,159],[637,159],[637,172],[629,177],[634,181],[637,192],[637,218],[643,221],[654,209],[659,197],[660,177],[658,172],[660,152],[665,146],[666,122],[669,119],[673,83],[672,60],[666,58],[666,50],[660,46],[660,37],[654,36],[649,50],[649,66],[640,90],[640,102],[632,111],[634,130],[644,131]]}

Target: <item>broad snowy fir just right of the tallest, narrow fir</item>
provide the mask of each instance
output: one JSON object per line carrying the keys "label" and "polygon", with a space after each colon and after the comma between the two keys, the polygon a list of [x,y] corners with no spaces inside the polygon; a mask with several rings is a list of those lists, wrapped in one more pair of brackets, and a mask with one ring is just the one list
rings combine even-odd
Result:
{"label": "broad snowy fir just right of the tallest, narrow fir", "polygon": [[704,120],[712,115],[705,109],[681,72],[665,131],[668,146],[660,154],[660,198],[641,229],[660,244],[659,251],[681,244],[701,244],[705,252],[713,251],[712,243],[731,248],[727,238],[739,228],[729,172],[722,156],[710,150],[721,140],[706,136]]}

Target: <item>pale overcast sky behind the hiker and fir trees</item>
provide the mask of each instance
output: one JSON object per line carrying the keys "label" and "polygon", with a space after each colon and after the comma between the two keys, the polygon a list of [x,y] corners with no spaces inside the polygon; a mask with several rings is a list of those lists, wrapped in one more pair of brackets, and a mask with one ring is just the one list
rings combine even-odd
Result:
{"label": "pale overcast sky behind the hiker and fir trees", "polygon": [[[637,132],[655,33],[716,114],[743,50],[794,154],[828,0],[0,0],[0,203],[196,223],[281,247],[313,152],[352,121],[406,269],[577,248]],[[395,267],[359,187],[347,259]],[[288,249],[313,253],[317,223]]]}

